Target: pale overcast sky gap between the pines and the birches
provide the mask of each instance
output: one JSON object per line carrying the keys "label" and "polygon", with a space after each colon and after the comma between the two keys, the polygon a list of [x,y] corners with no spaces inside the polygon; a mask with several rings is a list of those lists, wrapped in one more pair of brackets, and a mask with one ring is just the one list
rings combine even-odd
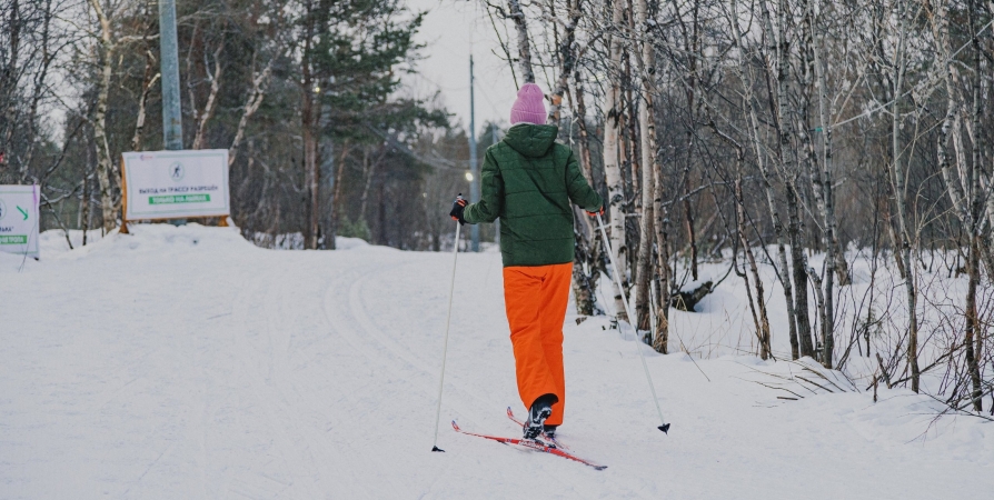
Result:
{"label": "pale overcast sky gap between the pines and the birches", "polygon": [[[427,47],[411,86],[418,97],[441,91],[441,102],[469,124],[469,54],[475,60],[476,129],[487,120],[508,123],[517,89],[494,27],[478,0],[407,0],[412,11],[428,11],[418,40]],[[498,27],[501,24],[498,23]]]}

